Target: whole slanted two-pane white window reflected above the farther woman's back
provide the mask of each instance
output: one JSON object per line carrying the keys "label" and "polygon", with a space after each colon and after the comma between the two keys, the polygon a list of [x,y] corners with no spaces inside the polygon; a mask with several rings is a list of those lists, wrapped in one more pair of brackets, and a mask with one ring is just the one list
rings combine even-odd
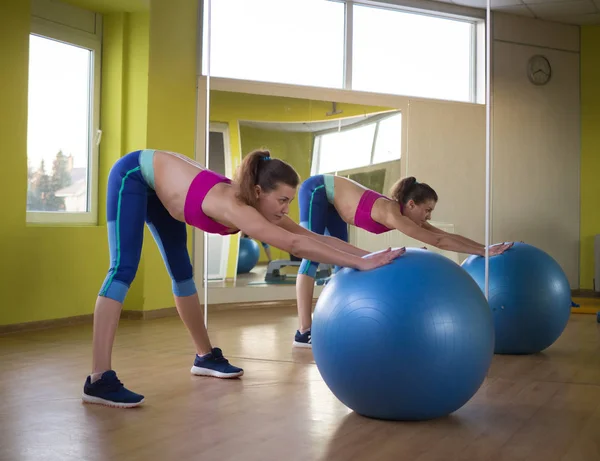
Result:
{"label": "whole slanted two-pane white window reflected above the farther woman's back", "polygon": [[311,174],[335,173],[399,160],[402,114],[371,116],[366,122],[317,133]]}

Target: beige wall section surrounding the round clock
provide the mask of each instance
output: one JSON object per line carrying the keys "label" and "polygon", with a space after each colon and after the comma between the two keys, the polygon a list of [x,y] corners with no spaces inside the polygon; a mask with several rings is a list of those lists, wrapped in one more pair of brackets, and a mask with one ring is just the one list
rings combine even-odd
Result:
{"label": "beige wall section surrounding the round clock", "polygon": [[[492,238],[552,255],[579,284],[579,28],[504,14],[493,30]],[[552,79],[527,78],[545,55]]]}

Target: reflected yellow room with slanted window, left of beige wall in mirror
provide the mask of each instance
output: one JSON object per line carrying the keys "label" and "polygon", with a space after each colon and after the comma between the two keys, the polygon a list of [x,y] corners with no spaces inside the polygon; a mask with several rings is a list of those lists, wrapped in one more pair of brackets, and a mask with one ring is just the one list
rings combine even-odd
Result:
{"label": "reflected yellow room with slanted window, left of beige wall in mirror", "polygon": [[[292,165],[301,181],[330,173],[386,193],[400,175],[397,109],[213,90],[210,114],[211,169],[229,177],[256,149]],[[297,195],[289,217],[300,223]],[[350,241],[359,238],[350,234]],[[272,299],[277,287],[295,296],[300,259],[278,248],[243,235],[211,235],[208,260],[210,288],[270,288],[262,299]],[[317,284],[330,274],[319,266]]]}

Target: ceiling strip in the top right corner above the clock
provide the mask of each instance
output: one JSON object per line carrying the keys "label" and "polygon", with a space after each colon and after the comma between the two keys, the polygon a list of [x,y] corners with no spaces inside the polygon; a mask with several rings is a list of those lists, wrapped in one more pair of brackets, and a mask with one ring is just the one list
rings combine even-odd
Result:
{"label": "ceiling strip in the top right corner above the clock", "polygon": [[[487,8],[487,0],[437,0]],[[491,9],[564,24],[600,24],[600,0],[491,0]]]}

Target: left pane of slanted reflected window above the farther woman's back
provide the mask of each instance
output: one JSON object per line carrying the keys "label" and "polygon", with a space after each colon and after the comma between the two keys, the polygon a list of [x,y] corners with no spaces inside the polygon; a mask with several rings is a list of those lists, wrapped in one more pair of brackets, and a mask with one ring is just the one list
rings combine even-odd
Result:
{"label": "left pane of slanted reflected window above the farther woman's back", "polygon": [[375,124],[320,135],[319,173],[369,165]]}

